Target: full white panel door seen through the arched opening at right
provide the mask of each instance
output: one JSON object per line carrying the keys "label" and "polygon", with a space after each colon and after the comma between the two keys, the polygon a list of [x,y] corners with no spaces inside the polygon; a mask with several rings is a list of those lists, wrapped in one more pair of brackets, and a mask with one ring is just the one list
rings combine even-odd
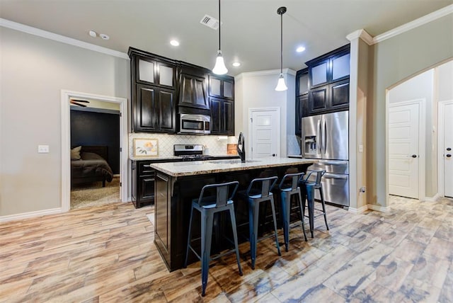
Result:
{"label": "full white panel door seen through the arched opening at right", "polygon": [[389,107],[389,193],[419,197],[420,105]]}

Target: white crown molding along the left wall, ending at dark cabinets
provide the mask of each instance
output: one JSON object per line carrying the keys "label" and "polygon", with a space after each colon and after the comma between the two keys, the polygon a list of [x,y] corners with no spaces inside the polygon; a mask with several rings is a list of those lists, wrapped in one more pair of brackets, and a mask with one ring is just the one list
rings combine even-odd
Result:
{"label": "white crown molding along the left wall, ending at dark cabinets", "polygon": [[23,33],[28,33],[30,35],[36,35],[36,36],[39,36],[42,38],[55,40],[58,42],[69,44],[69,45],[74,45],[77,47],[84,48],[86,50],[93,50],[94,52],[101,52],[105,55],[110,55],[110,56],[129,60],[129,56],[125,52],[118,52],[117,50],[110,50],[110,48],[107,48],[107,47],[93,45],[88,42],[69,38],[64,35],[50,33],[47,30],[40,30],[39,28],[33,28],[32,26],[9,21],[9,20],[3,19],[3,18],[0,18],[0,26],[3,26],[4,28],[11,28],[12,30],[18,30]]}

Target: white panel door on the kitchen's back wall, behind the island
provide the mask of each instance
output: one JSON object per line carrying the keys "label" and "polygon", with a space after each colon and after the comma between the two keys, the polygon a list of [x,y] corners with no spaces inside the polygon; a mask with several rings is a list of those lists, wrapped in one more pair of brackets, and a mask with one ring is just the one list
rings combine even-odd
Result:
{"label": "white panel door on the kitchen's back wall, behind the island", "polygon": [[280,110],[251,110],[251,159],[280,156]]}

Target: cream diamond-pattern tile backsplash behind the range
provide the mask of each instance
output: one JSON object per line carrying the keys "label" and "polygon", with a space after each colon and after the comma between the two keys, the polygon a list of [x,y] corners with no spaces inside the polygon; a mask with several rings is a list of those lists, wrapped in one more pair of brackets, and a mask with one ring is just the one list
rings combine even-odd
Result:
{"label": "cream diamond-pattern tile backsplash behind the range", "polygon": [[168,135],[168,134],[148,134],[148,133],[130,133],[129,134],[129,155],[133,155],[133,139],[146,138],[159,140],[159,157],[173,156],[174,144],[202,144],[209,149],[207,154],[212,156],[226,155],[226,144],[237,143],[236,137],[226,136],[195,136],[195,135]]}

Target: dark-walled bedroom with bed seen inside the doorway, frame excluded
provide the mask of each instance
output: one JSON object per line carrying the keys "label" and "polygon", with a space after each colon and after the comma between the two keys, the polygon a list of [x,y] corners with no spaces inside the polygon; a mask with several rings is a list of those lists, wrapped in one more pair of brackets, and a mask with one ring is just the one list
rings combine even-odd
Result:
{"label": "dark-walled bedroom with bed seen inside the doorway, frame excluded", "polygon": [[120,104],[72,98],[71,210],[120,201]]}

